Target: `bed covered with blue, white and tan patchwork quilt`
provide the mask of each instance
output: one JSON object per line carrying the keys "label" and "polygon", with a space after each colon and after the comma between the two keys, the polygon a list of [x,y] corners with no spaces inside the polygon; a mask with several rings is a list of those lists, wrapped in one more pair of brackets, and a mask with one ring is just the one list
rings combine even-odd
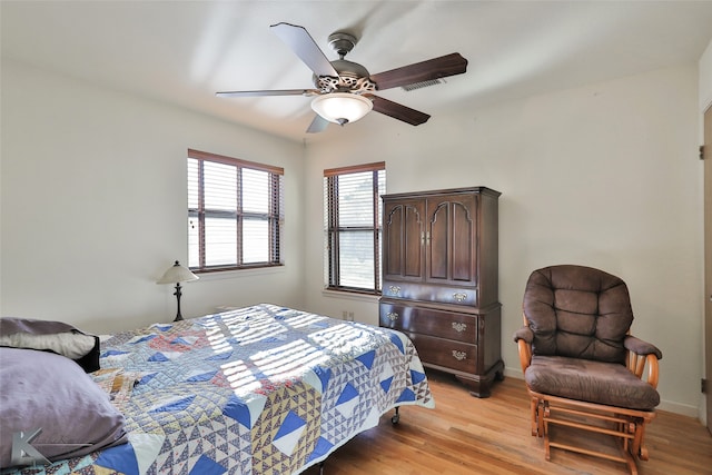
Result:
{"label": "bed covered with blue, white and tan patchwork quilt", "polygon": [[405,335],[270,304],[106,337],[99,366],[116,441],[2,475],[296,474],[393,408],[434,407]]}

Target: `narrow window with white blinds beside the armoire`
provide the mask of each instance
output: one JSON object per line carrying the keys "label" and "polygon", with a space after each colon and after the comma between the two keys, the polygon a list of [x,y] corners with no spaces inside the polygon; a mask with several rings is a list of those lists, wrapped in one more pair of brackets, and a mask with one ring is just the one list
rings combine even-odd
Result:
{"label": "narrow window with white blinds beside the armoire", "polygon": [[334,290],[380,293],[385,162],[324,170],[325,280]]}

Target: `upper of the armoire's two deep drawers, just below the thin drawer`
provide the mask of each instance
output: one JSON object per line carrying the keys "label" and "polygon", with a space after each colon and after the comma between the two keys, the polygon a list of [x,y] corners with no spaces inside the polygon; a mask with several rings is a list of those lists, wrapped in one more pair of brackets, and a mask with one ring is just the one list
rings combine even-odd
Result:
{"label": "upper of the armoire's two deep drawers, just below the thin drawer", "polygon": [[379,318],[382,327],[469,344],[477,342],[475,315],[382,303]]}

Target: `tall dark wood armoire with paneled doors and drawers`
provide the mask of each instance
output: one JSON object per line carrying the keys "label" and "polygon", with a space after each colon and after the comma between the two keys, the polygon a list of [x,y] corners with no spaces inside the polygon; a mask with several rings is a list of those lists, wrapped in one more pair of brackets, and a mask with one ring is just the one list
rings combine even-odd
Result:
{"label": "tall dark wood armoire with paneled doors and drawers", "polygon": [[503,377],[497,199],[485,187],[383,196],[380,326],[474,396]]}

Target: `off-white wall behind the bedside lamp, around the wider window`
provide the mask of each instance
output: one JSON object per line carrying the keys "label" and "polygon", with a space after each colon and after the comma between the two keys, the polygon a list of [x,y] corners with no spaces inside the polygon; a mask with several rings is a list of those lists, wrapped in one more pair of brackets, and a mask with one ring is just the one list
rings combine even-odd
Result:
{"label": "off-white wall behind the bedside lamp, around the wider window", "polygon": [[286,266],[185,285],[184,316],[301,305],[304,149],[2,61],[1,315],[115,331],[176,314],[155,281],[187,259],[188,148],[284,167]]}

